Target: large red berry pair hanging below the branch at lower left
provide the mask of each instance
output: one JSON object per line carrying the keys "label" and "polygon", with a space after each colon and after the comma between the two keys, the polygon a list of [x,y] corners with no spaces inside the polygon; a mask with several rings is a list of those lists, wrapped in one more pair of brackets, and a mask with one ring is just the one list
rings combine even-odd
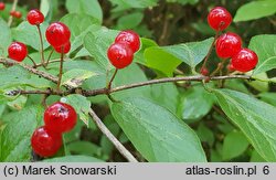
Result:
{"label": "large red berry pair hanging below the branch at lower left", "polygon": [[54,156],[62,147],[62,134],[72,130],[77,120],[75,109],[64,103],[55,103],[44,112],[44,124],[34,130],[31,145],[41,157]]}

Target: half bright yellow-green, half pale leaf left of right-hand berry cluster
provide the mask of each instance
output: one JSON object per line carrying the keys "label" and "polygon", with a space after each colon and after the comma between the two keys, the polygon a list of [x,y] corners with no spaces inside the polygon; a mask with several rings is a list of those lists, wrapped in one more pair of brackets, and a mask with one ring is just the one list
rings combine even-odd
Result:
{"label": "half bright yellow-green, half pale leaf left of right-hand berry cluster", "polygon": [[213,38],[201,42],[189,42],[185,44],[153,46],[145,51],[147,65],[172,76],[173,71],[181,64],[187,63],[192,70],[201,63],[212,45]]}

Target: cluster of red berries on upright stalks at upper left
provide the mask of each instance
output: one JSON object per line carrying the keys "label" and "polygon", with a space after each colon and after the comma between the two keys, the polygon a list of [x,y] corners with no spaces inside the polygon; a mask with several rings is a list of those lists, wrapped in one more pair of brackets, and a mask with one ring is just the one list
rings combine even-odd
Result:
{"label": "cluster of red berries on upright stalks at upper left", "polygon": [[[44,15],[39,10],[31,10],[26,15],[26,20],[31,25],[36,25],[40,28],[40,24],[44,22]],[[46,40],[54,47],[57,53],[68,53],[71,50],[71,31],[62,22],[54,22],[49,25],[46,29]],[[10,59],[22,62],[28,55],[26,45],[22,42],[13,42],[8,47],[8,53]]]}

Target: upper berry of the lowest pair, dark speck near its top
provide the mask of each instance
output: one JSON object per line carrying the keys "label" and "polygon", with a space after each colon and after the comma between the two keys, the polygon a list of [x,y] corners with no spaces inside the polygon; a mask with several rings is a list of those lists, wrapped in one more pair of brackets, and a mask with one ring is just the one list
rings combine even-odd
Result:
{"label": "upper berry of the lowest pair, dark speck near its top", "polygon": [[64,103],[55,103],[44,112],[46,128],[56,133],[66,133],[76,125],[77,115],[75,109]]}

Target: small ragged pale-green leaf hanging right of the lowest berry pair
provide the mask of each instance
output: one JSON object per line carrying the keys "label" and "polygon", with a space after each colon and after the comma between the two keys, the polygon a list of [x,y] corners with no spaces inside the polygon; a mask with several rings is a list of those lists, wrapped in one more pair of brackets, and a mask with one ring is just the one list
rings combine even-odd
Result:
{"label": "small ragged pale-green leaf hanging right of the lowest berry pair", "polygon": [[86,97],[78,94],[68,95],[64,97],[63,100],[72,105],[78,114],[79,119],[88,126],[91,102],[87,100]]}

